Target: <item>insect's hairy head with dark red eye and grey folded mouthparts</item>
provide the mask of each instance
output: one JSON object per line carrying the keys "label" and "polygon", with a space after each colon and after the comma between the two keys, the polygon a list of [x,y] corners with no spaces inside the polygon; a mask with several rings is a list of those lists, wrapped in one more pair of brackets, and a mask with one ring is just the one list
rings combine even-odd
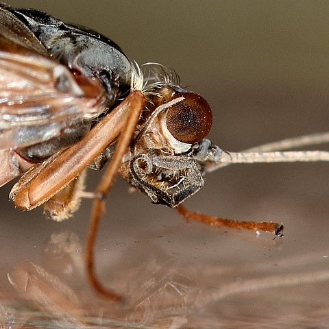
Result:
{"label": "insect's hairy head with dark red eye and grey folded mouthparts", "polygon": [[212,112],[203,97],[180,87],[172,71],[157,69],[144,75],[149,103],[121,174],[155,204],[175,207],[204,185],[195,148],[210,130]]}

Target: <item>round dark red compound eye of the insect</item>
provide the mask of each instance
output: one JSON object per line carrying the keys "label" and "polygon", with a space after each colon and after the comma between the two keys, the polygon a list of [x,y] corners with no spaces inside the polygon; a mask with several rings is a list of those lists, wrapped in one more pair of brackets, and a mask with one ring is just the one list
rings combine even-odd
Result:
{"label": "round dark red compound eye of the insect", "polygon": [[173,97],[184,97],[171,106],[167,113],[167,128],[178,141],[197,143],[206,137],[212,124],[211,108],[203,97],[194,93],[177,93]]}

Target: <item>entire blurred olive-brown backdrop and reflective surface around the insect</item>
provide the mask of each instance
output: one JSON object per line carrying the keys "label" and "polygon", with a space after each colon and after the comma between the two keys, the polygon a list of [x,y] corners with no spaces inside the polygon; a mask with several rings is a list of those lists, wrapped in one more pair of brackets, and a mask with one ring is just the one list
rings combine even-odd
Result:
{"label": "entire blurred olive-brown backdrop and reflective surface around the insect", "polygon": [[[209,138],[223,149],[328,130],[329,12],[319,3],[173,1],[166,15],[160,3],[10,4],[93,27],[139,63],[173,67],[212,106]],[[73,219],[53,223],[40,210],[15,210],[9,184],[1,188],[1,325],[329,328],[327,176],[326,163],[230,166],[207,175],[185,203],[223,217],[283,221],[284,238],[275,241],[184,223],[118,179],[96,250],[99,275],[126,296],[125,306],[98,299],[84,279],[90,200]],[[90,175],[88,188],[98,179]],[[49,245],[58,232],[70,233]]]}

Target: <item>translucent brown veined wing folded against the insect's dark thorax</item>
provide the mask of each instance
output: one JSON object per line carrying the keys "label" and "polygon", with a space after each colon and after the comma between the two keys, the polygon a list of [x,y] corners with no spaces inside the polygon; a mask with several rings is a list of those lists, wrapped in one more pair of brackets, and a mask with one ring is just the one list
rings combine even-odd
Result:
{"label": "translucent brown veined wing folded against the insect's dark thorax", "polygon": [[[105,94],[99,80],[52,60],[29,29],[0,8],[0,149],[47,141],[68,125],[97,117]],[[35,136],[25,142],[29,127]]]}

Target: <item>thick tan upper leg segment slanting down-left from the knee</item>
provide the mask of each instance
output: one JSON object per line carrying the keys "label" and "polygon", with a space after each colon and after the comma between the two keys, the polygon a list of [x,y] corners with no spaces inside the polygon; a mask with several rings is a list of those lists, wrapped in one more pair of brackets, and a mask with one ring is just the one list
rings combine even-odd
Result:
{"label": "thick tan upper leg segment slanting down-left from the knee", "polygon": [[144,99],[141,92],[130,93],[81,141],[27,171],[10,193],[15,206],[22,210],[36,208],[69,184],[122,131],[125,118],[136,104],[136,99]]}

